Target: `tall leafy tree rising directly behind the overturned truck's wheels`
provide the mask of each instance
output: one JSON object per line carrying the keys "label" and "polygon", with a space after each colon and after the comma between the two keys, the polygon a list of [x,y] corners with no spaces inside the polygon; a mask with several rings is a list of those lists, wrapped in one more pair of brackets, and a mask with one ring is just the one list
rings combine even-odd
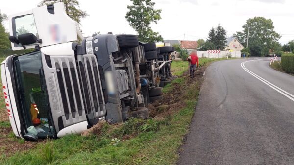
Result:
{"label": "tall leafy tree rising directly behind the overturned truck's wheels", "polygon": [[125,19],[137,32],[139,40],[142,42],[163,41],[158,32],[154,32],[150,24],[161,19],[161,10],[155,10],[155,3],[151,0],[131,0],[133,5],[128,5],[129,10]]}

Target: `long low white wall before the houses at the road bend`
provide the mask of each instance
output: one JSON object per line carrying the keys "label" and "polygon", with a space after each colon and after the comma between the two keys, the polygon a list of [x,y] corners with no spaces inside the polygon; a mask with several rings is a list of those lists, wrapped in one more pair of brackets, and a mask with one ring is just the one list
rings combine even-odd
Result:
{"label": "long low white wall before the houses at the road bend", "polygon": [[208,53],[208,51],[197,51],[199,58],[225,58],[227,55],[231,55],[232,58],[240,58],[241,51],[221,51],[220,53]]}

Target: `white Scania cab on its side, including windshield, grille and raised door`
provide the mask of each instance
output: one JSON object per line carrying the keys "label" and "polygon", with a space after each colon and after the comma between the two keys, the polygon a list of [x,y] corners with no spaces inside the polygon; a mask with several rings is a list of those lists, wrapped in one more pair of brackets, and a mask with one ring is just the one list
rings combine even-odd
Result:
{"label": "white Scania cab on its side, including windshield, grille and raised door", "polygon": [[86,51],[85,42],[77,44],[77,24],[63,3],[11,15],[9,25],[13,50],[35,48],[1,63],[6,108],[17,137],[81,133],[104,118],[107,95],[96,56]]}

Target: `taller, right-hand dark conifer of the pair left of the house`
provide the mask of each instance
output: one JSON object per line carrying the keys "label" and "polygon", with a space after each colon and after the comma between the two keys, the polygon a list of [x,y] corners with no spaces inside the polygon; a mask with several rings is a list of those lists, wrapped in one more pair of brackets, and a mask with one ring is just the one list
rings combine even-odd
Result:
{"label": "taller, right-hand dark conifer of the pair left of the house", "polygon": [[216,28],[215,42],[213,42],[218,50],[223,50],[226,47],[226,31],[218,25]]}

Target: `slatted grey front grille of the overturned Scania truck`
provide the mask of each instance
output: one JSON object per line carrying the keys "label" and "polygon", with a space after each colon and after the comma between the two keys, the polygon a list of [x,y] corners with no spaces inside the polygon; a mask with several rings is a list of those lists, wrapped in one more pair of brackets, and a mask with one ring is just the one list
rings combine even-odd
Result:
{"label": "slatted grey front grille of the overturned Scania truck", "polygon": [[51,56],[51,62],[52,69],[45,68],[44,72],[55,75],[60,98],[60,109],[52,111],[55,126],[61,130],[86,121],[87,117],[92,120],[105,116],[104,95],[95,56],[78,55],[77,62],[74,56]]}

